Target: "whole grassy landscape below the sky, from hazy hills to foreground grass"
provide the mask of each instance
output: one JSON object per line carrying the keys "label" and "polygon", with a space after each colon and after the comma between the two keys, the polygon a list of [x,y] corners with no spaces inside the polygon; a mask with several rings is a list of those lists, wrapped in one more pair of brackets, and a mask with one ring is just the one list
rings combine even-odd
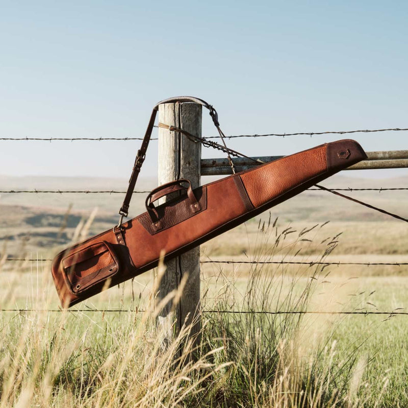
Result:
{"label": "whole grassy landscape below the sky, from hazy hills to foreground grass", "polygon": [[[30,187],[29,184],[17,186],[15,181],[7,179],[0,179],[0,181],[3,183],[2,190],[11,189],[13,183],[15,190]],[[378,184],[381,184],[382,187],[400,187],[404,183],[406,185],[406,181],[406,177],[385,183],[338,177],[337,180],[327,182],[326,185],[330,187],[371,187],[371,185],[379,187]],[[89,185],[90,182],[92,186]],[[62,189],[58,180],[49,180],[48,183],[43,185],[40,183],[35,187],[37,189]],[[110,181],[111,184],[97,180],[81,181],[83,184],[75,183],[77,183],[75,180],[67,181],[63,188],[67,190],[119,189],[118,182],[112,181]],[[151,184],[151,181],[147,182],[144,188],[152,187]],[[123,190],[124,186],[125,183],[122,183],[120,190]],[[30,189],[32,187],[33,185]],[[403,205],[407,192],[349,194],[402,216],[408,216],[407,207]],[[142,211],[143,197],[143,195],[134,197],[137,198],[132,204],[136,209],[135,213]],[[49,259],[59,248],[63,248],[72,241],[85,238],[84,234],[93,235],[110,228],[117,221],[115,214],[120,206],[121,198],[122,195],[119,194],[78,193],[52,196],[3,194],[0,198],[2,256],[6,254],[9,258]],[[72,202],[73,206],[68,214],[69,202]],[[87,231],[85,224],[96,206],[98,211],[93,213],[94,219]],[[330,222],[326,223],[326,221]],[[80,227],[78,227],[79,224]],[[310,231],[301,234],[305,230]],[[279,240],[277,240],[278,237]],[[202,245],[201,260],[313,263],[322,260],[322,255],[328,247],[330,251],[323,258],[324,262],[408,262],[406,250],[408,234],[406,234],[405,223],[394,221],[344,199],[315,191],[302,193],[272,209],[270,214],[265,213]],[[50,277],[49,264],[49,261],[10,262],[3,259],[1,308],[3,310],[58,310],[58,299]],[[242,344],[245,343],[245,330],[248,328],[250,328],[246,333],[250,339],[248,341],[257,343],[258,340],[253,340],[258,339],[257,330],[264,330],[259,341],[269,344],[275,351],[282,346],[282,342],[295,341],[295,346],[285,346],[286,351],[283,354],[289,353],[296,362],[298,360],[303,363],[312,362],[310,367],[313,367],[313,370],[310,369],[310,372],[307,368],[303,370],[317,381],[315,384],[317,389],[324,390],[319,398],[314,400],[312,398],[313,403],[309,401],[311,406],[334,406],[336,398],[338,398],[336,403],[339,406],[408,406],[406,392],[408,316],[392,313],[408,312],[408,309],[405,309],[408,293],[407,272],[408,267],[402,265],[369,267],[330,265],[323,267],[272,264],[257,267],[238,263],[202,264],[201,290],[204,310],[241,312],[250,310],[386,311],[390,314],[308,314],[301,315],[301,319],[298,319],[296,315],[295,319],[287,315],[248,316],[205,313],[204,320],[208,320],[210,324],[203,331],[203,338],[206,339],[207,346],[210,348],[224,347],[224,351],[221,352],[222,357],[210,359],[215,365],[211,366],[211,370],[214,371],[209,384],[214,390],[218,390],[220,395],[217,394],[215,397],[198,391],[200,390],[199,384],[196,385],[197,395],[200,396],[203,404],[205,402],[204,406],[222,406],[217,405],[221,403],[224,404],[223,406],[239,406],[232,402],[234,398],[235,401],[242,401],[242,404],[245,402],[246,406],[297,406],[293,402],[296,399],[292,399],[292,402],[289,400],[277,402],[276,399],[273,399],[275,391],[276,395],[280,395],[279,392],[290,394],[288,390],[291,387],[296,390],[296,387],[300,387],[304,390],[303,386],[293,384],[291,382],[293,380],[288,380],[285,386],[279,382],[279,387],[281,387],[279,391],[276,389],[276,387],[279,388],[276,385],[278,379],[273,379],[275,381],[273,382],[272,377],[265,377],[275,387],[272,387],[272,391],[268,391],[269,399],[261,385],[259,388],[253,384],[252,388],[248,386],[248,389],[251,390],[248,394],[249,399],[247,396],[245,399],[241,394],[239,396],[234,394],[238,385],[234,383],[231,373],[235,372],[238,378],[245,372],[239,371],[239,364],[243,365],[242,370],[248,371],[247,377],[245,377],[246,374],[242,375],[249,382],[256,378],[250,371],[252,366],[246,366],[246,363],[240,360],[233,362],[236,371],[233,369],[228,371],[230,369],[226,368],[229,367],[227,364],[231,363],[234,357],[233,353],[228,353],[226,350],[232,348],[234,339],[238,342],[240,338],[237,335],[237,338],[227,340],[228,336],[225,333],[222,334],[222,330],[217,331],[215,328],[235,327],[238,334],[244,333],[243,340],[241,339]],[[133,282],[126,282],[94,296],[78,305],[78,308],[85,310],[84,312],[69,312],[62,316],[60,312],[3,311],[0,314],[0,333],[2,333],[0,339],[3,342],[0,378],[5,378],[5,380],[0,406],[14,406],[18,401],[21,401],[21,406],[30,406],[30,404],[32,406],[61,406],[62,404],[64,406],[97,406],[97,401],[106,402],[104,398],[107,396],[111,398],[110,406],[132,406],[130,394],[118,388],[120,381],[107,382],[107,377],[101,374],[102,372],[111,376],[118,375],[118,373],[122,375],[124,382],[122,381],[120,387],[129,387],[129,390],[139,395],[141,400],[147,401],[146,405],[141,406],[162,406],[155,400],[156,396],[151,396],[152,399],[149,400],[145,391],[135,390],[131,382],[126,382],[126,378],[133,378],[136,382],[140,381],[140,384],[138,383],[140,387],[150,389],[151,385],[143,382],[144,380],[138,377],[139,374],[136,371],[131,370],[126,375],[123,371],[124,365],[131,363],[136,366],[140,365],[140,370],[143,372],[149,371],[147,362],[139,355],[143,342],[144,345],[151,343],[152,349],[149,350],[152,353],[157,352],[154,347],[155,331],[151,326],[143,326],[146,322],[141,323],[142,313],[135,312],[136,309],[149,308],[154,276],[154,271],[147,272],[136,277]],[[132,310],[132,312],[103,313],[86,311],[88,309],[121,309]],[[282,327],[286,325],[289,325],[290,329],[285,331]],[[144,337],[139,332],[135,335],[135,332],[131,330],[132,327],[136,332],[137,330],[143,331],[144,327]],[[268,337],[272,333],[269,330],[271,327],[275,333],[274,342],[271,337]],[[26,337],[32,337],[37,343],[30,343],[31,345],[28,346],[29,343],[25,342],[29,340],[22,341],[21,333]],[[58,337],[58,347],[50,350],[50,345],[54,341],[53,336]],[[132,342],[133,336],[139,340],[135,340],[129,349],[136,354],[132,354],[129,357],[130,360],[123,360],[118,350],[122,348],[123,354],[125,342]],[[224,340],[221,342],[214,340],[218,338]],[[142,343],[139,344],[139,341]],[[262,348],[261,343],[260,348]],[[265,346],[264,343],[262,344]],[[18,351],[17,346],[21,346],[22,351]],[[47,347],[48,352],[46,352]],[[245,348],[245,346],[242,347]],[[22,360],[19,360],[18,356],[16,358],[18,352],[23,354],[22,357],[25,355],[24,358],[21,357]],[[154,354],[149,354],[149,352],[146,355],[154,358],[152,357]],[[279,352],[281,352],[281,354],[278,353],[279,363],[276,363],[278,366],[284,364],[281,361],[284,359],[282,351]],[[113,357],[111,358],[110,355]],[[265,351],[262,358],[267,355]],[[35,364],[33,366],[32,363],[27,363],[34,358],[33,356],[37,356],[38,361],[44,367],[36,368]],[[58,361],[58,356],[61,361]],[[112,367],[106,365],[107,361],[111,361],[109,359],[113,362]],[[285,364],[291,367],[293,361],[289,359],[291,363],[288,363],[287,355],[284,360]],[[21,362],[20,369],[13,365],[16,364],[12,363],[13,361]],[[27,367],[24,364],[27,364]],[[203,361],[200,364],[205,365]],[[297,364],[300,363],[297,362]],[[11,372],[16,374],[14,377],[11,374],[6,375],[5,368],[7,367],[10,367]],[[189,377],[194,383],[198,381],[197,372],[201,368],[190,368],[189,373],[177,373],[177,375],[180,374],[180,378],[183,375]],[[292,368],[288,368],[289,371]],[[160,369],[164,370],[159,370],[160,375],[164,378],[165,365]],[[159,375],[155,370],[151,370],[155,372],[155,375]],[[231,376],[228,376],[230,375],[228,373]],[[322,373],[325,374],[324,380],[320,376]],[[63,375],[66,376],[65,379],[62,378]],[[98,375],[101,376],[100,379]],[[146,375],[149,380],[152,378],[146,373],[143,375]],[[175,390],[182,384],[183,380],[177,378],[174,381],[178,386],[172,383],[173,388],[169,386],[168,390],[162,390],[168,398],[161,401],[165,406],[170,406],[169,401],[173,401],[171,395],[175,395]],[[15,387],[12,386],[13,381]],[[261,378],[259,381],[262,383]],[[157,384],[155,387],[158,387]],[[242,390],[246,389],[242,384],[240,387]],[[343,394],[336,394],[334,400],[330,402],[330,395],[335,395],[333,390],[336,387],[344,387]],[[9,392],[7,394],[4,390],[10,392],[7,391]],[[115,392],[112,390],[116,390],[116,394],[121,396],[121,401],[115,399]],[[232,393],[233,399],[229,399],[231,396],[228,396],[230,395],[228,393]],[[189,404],[197,403],[193,394],[193,391],[191,394],[187,393],[187,396],[174,406],[192,406]],[[274,397],[271,396],[272,394]],[[84,395],[88,396],[88,402],[86,399],[81,399]],[[42,402],[38,399],[39,396],[43,397]],[[24,401],[30,401],[30,404],[24,405]],[[105,403],[105,405],[109,404]]]}

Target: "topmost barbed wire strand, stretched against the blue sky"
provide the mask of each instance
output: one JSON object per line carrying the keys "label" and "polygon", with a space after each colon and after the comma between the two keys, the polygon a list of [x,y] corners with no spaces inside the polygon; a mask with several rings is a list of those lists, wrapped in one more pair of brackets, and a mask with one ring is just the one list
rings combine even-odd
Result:
{"label": "topmost barbed wire strand, stretched against the blue sky", "polygon": [[[155,126],[158,127],[158,126]],[[326,132],[297,132],[297,133],[266,133],[266,134],[254,134],[254,135],[232,135],[232,136],[225,136],[227,139],[235,139],[241,137],[268,137],[268,136],[277,136],[277,137],[286,137],[286,136],[315,136],[315,135],[344,135],[350,133],[372,133],[372,132],[403,132],[408,131],[408,128],[401,128],[401,127],[393,127],[390,129],[365,129],[365,130],[353,130],[353,131],[326,131]],[[220,139],[220,136],[207,136],[206,139]],[[87,141],[96,141],[101,142],[105,140],[113,140],[113,141],[130,141],[130,140],[143,140],[142,137],[21,137],[21,138],[13,138],[13,137],[2,137],[0,140],[4,141],[77,141],[77,140],[87,140]],[[150,140],[158,140],[158,138],[151,138]]]}

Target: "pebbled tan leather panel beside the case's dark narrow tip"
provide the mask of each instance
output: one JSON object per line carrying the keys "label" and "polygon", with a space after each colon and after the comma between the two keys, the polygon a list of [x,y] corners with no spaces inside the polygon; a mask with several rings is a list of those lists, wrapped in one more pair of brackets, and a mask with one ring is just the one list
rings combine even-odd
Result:
{"label": "pebbled tan leather panel beside the case's dark narrow tip", "polygon": [[326,169],[326,146],[323,145],[243,172],[240,177],[252,205],[260,207]]}

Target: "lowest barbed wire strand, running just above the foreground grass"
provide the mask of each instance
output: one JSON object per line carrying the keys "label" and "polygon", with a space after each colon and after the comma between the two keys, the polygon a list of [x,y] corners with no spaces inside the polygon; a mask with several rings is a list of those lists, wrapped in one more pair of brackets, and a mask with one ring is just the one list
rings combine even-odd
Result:
{"label": "lowest barbed wire strand, running just above the foreground grass", "polygon": [[[403,308],[398,308],[400,310]],[[139,309],[2,309],[0,312],[50,312],[50,313],[145,313],[145,310]],[[201,313],[222,313],[222,314],[264,314],[264,315],[387,315],[389,317],[408,315],[408,312],[371,312],[371,311],[351,311],[351,312],[335,312],[335,311],[240,311],[240,310],[203,310]]]}

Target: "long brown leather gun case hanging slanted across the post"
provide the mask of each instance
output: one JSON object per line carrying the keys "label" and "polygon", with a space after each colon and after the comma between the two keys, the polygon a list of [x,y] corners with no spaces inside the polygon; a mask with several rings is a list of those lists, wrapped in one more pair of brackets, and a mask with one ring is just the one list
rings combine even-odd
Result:
{"label": "long brown leather gun case hanging slanted across the post", "polygon": [[[317,146],[194,189],[202,206],[196,213],[189,209],[186,195],[158,206],[160,231],[146,212],[120,230],[115,227],[74,245],[60,252],[52,266],[61,303],[69,307],[154,268],[162,250],[166,259],[174,258],[364,159],[364,150],[353,140]],[[111,265],[117,271],[110,271]],[[108,272],[112,275],[105,276]],[[70,282],[68,274],[76,280]],[[75,292],[74,282],[79,279],[85,279],[86,287]]]}

